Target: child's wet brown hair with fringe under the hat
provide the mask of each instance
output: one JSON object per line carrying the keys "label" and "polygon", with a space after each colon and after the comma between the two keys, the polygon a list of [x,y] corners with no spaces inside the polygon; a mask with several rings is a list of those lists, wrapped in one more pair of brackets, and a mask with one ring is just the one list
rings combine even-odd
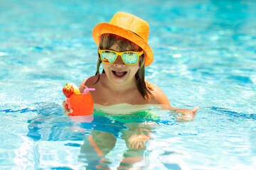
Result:
{"label": "child's wet brown hair with fringe under the hat", "polygon": [[[132,47],[132,50],[136,52],[142,51],[141,47],[118,35],[103,34],[100,36],[100,45],[99,45],[100,50],[110,49],[110,47],[112,47],[112,45],[114,44],[117,44],[117,47],[119,48],[120,51],[125,51],[127,47]],[[149,82],[145,80],[144,60],[145,60],[145,55],[143,54],[139,57],[139,69],[135,74],[135,79],[136,79],[137,88],[140,94],[142,94],[142,96],[146,100],[148,100],[152,96],[151,91],[153,90],[153,88],[149,84]],[[97,72],[95,74],[98,76],[97,81],[100,80],[100,64],[101,63],[102,63],[102,60],[100,60],[100,54],[98,53]],[[105,73],[104,69],[102,70],[102,73]],[[97,83],[97,81],[95,82],[95,84]]]}

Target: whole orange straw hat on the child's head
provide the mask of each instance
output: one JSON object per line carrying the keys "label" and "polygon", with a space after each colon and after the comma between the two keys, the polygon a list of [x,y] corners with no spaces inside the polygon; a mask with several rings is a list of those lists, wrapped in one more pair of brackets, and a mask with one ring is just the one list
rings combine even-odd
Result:
{"label": "whole orange straw hat on the child's head", "polygon": [[111,33],[126,38],[139,45],[145,53],[145,67],[154,60],[154,54],[147,41],[149,38],[149,24],[130,13],[117,12],[110,23],[99,23],[92,30],[92,38],[100,44],[100,35]]}

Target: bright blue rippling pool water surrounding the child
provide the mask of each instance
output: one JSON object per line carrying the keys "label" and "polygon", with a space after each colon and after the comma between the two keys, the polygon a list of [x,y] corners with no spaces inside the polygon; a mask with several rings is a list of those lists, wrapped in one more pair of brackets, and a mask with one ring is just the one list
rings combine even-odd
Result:
{"label": "bright blue rippling pool water surrounding the child", "polygon": [[[0,0],[1,169],[117,169],[124,157],[138,161],[127,169],[255,169],[255,8],[254,0]],[[92,28],[117,11],[149,23],[155,60],[146,79],[172,106],[198,106],[193,121],[155,108],[96,111],[84,123],[63,115],[63,85],[95,74]],[[138,134],[151,137],[144,149],[127,149],[124,139]]]}

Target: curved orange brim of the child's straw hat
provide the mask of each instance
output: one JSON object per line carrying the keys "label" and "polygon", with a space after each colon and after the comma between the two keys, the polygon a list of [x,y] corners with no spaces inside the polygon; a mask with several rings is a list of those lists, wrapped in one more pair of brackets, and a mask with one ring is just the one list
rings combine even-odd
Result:
{"label": "curved orange brim of the child's straw hat", "polygon": [[142,48],[145,53],[145,67],[149,66],[154,60],[154,53],[151,50],[151,47],[145,42],[142,38],[138,35],[132,33],[129,30],[126,30],[122,27],[115,26],[110,23],[99,23],[95,28],[92,30],[92,38],[95,40],[96,44],[99,46],[100,44],[100,35],[105,33],[111,33],[114,35],[119,35],[122,38],[126,38],[134,42],[136,45]]}

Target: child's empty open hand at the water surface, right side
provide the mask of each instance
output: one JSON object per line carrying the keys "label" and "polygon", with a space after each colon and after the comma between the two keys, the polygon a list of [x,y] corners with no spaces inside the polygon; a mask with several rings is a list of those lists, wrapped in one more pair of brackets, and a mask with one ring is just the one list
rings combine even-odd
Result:
{"label": "child's empty open hand at the water surface, right side", "polygon": [[198,111],[198,109],[199,109],[198,107],[193,108],[192,110],[177,109],[176,111],[174,111],[174,113],[182,113],[182,115],[179,115],[178,118],[176,118],[176,121],[184,122],[184,121],[192,120],[195,117],[196,112]]}

